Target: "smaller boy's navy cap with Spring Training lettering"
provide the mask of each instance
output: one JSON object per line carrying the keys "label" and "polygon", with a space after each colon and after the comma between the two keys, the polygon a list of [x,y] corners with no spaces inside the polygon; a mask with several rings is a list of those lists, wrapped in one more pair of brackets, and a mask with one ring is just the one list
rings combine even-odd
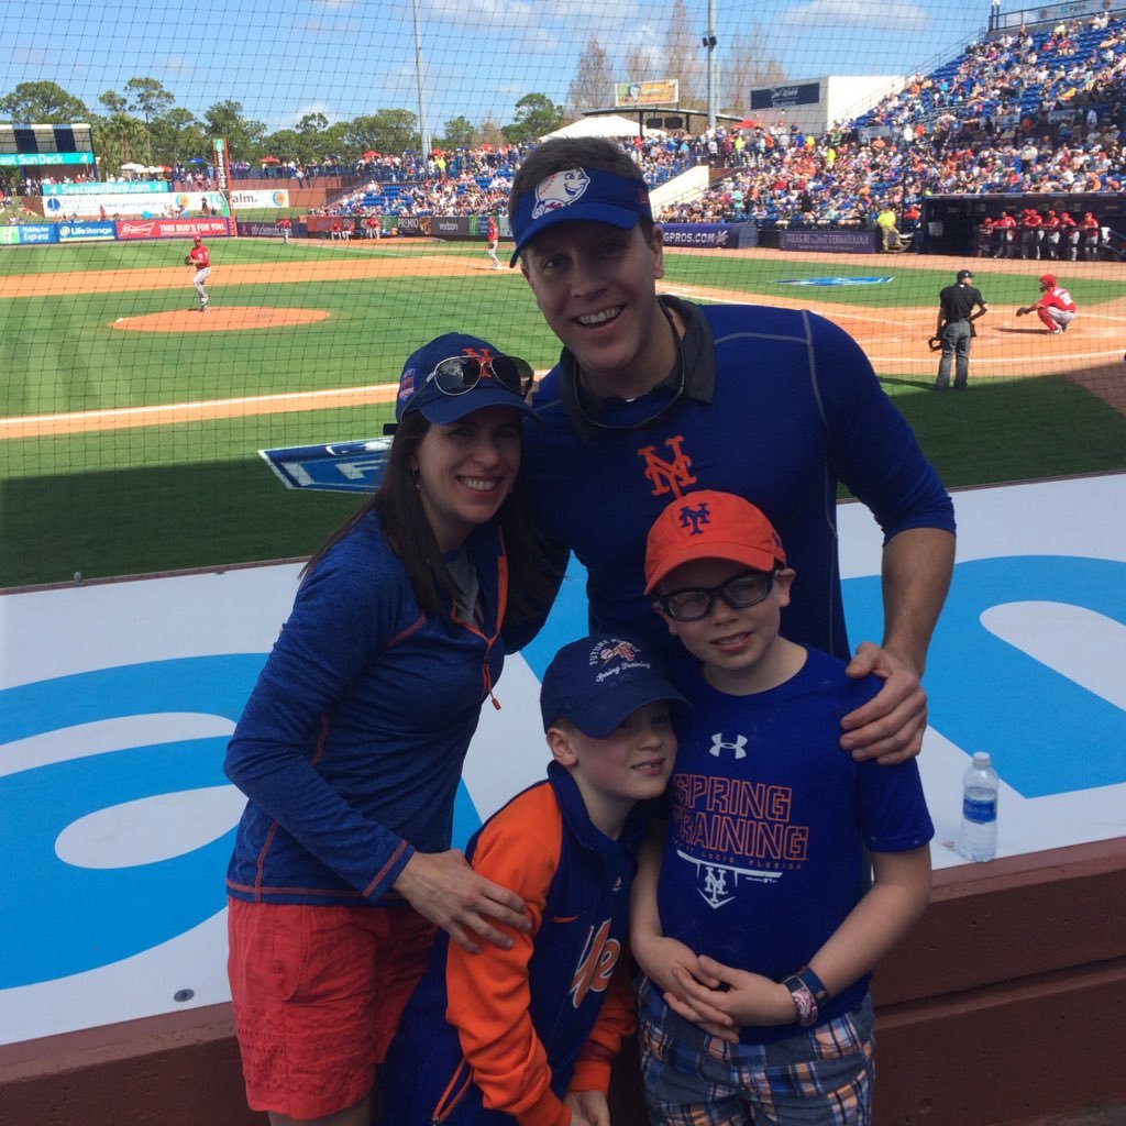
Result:
{"label": "smaller boy's navy cap with Spring Training lettering", "polygon": [[539,689],[544,731],[568,720],[590,739],[605,739],[637,708],[659,700],[685,703],[646,645],[607,634],[564,645]]}

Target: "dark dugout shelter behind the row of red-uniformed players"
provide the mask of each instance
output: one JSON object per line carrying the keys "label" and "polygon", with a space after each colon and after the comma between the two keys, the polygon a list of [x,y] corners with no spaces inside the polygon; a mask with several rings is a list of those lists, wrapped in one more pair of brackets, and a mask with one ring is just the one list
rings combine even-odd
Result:
{"label": "dark dugout shelter behind the row of red-uniformed players", "polygon": [[1126,240],[1126,196],[1121,193],[1038,193],[1027,195],[928,196],[922,202],[922,226],[927,233],[924,254],[974,253],[974,232],[982,220],[1000,218],[1002,212],[1019,215],[1026,207],[1044,213],[1091,212],[1101,226],[1110,227],[1117,241]]}

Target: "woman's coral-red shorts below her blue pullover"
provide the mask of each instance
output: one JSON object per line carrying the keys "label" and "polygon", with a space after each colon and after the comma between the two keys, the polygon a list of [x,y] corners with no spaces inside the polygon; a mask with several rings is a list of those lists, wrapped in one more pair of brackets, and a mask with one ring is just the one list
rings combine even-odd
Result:
{"label": "woman's coral-red shorts below her blue pullover", "polygon": [[250,1108],[321,1118],[355,1106],[426,969],[434,924],[408,908],[227,903]]}

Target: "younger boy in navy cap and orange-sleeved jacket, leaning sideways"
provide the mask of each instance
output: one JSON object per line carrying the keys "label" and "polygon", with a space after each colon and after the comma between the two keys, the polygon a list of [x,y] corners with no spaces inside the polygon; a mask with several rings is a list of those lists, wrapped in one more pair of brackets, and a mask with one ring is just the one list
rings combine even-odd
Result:
{"label": "younger boy in navy cap and orange-sleeved jacket, leaning sideways", "polygon": [[[511,949],[467,955],[439,936],[391,1047],[394,1126],[592,1126],[634,1006],[624,955],[644,830],[635,806],[672,772],[670,705],[650,650],[618,636],[563,646],[540,711],[553,761],[466,847],[527,904]],[[507,928],[503,928],[507,929]]]}

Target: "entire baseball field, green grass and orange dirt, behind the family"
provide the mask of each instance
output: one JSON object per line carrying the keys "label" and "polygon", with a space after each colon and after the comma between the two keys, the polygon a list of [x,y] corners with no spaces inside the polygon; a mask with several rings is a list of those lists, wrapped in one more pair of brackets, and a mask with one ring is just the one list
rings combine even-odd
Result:
{"label": "entire baseball field, green grass and orange dirt, behind the family", "polygon": [[[307,555],[357,499],[286,490],[259,449],[378,437],[403,359],[441,332],[537,370],[557,356],[519,271],[480,245],[216,240],[205,314],[184,249],[0,251],[0,587]],[[971,263],[990,313],[968,392],[937,395],[927,338],[966,265],[670,250],[661,286],[837,321],[950,488],[1126,467],[1120,265]],[[1047,268],[1080,310],[1053,338],[1013,315]]]}

